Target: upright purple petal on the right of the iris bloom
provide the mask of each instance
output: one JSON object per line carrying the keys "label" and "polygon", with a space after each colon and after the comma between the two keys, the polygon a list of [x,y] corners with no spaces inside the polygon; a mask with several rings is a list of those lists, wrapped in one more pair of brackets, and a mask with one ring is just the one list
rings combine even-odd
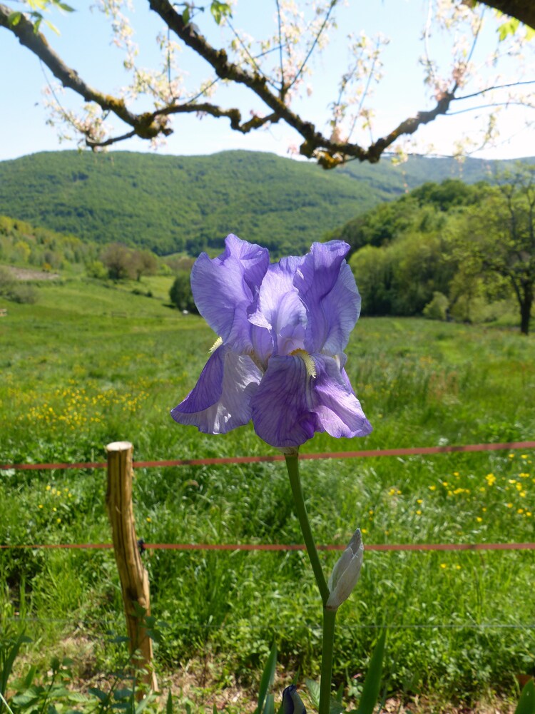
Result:
{"label": "upright purple petal on the right of the iris bloom", "polygon": [[309,352],[343,352],[360,313],[361,297],[345,261],[343,241],[314,243],[296,271],[294,285],[306,306],[304,348]]}

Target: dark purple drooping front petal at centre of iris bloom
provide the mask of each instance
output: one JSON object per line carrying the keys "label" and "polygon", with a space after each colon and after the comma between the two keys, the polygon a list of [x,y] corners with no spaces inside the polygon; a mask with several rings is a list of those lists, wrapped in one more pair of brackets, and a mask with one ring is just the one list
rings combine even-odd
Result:
{"label": "dark purple drooping front petal at centre of iris bloom", "polygon": [[298,356],[271,357],[251,399],[254,431],[271,446],[300,446],[314,436],[311,377]]}

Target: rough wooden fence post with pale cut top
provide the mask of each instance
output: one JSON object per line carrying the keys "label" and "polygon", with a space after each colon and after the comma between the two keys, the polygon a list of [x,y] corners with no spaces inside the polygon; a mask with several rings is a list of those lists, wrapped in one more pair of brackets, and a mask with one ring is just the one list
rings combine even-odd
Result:
{"label": "rough wooden fence post with pale cut top", "polygon": [[[139,652],[139,658],[133,658],[136,667],[146,670],[144,681],[152,690],[157,690],[158,683],[152,665],[152,640],[146,633],[146,627],[135,603],[151,614],[149,592],[149,574],[141,563],[139,546],[134,527],[134,508],[132,507],[132,453],[134,447],[129,441],[114,441],[106,446],[108,459],[108,488],[106,507],[111,523],[114,553],[121,590],[123,594],[126,629],[130,640],[132,655]],[[139,609],[139,608],[138,608]]]}

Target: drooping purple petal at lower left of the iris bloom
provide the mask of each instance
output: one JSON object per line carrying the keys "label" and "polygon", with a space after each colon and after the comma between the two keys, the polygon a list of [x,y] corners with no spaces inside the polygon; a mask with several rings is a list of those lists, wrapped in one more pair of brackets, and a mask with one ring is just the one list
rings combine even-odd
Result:
{"label": "drooping purple petal at lower left of the iris bloom", "polygon": [[193,391],[171,411],[171,416],[209,434],[223,434],[243,426],[251,418],[251,397],[261,376],[250,357],[221,346],[209,358]]}

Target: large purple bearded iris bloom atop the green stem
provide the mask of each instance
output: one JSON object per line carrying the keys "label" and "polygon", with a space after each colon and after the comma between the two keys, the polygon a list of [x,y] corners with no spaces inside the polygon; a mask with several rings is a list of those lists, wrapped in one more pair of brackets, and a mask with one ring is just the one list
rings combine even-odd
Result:
{"label": "large purple bearded iris bloom atop the green stem", "polygon": [[306,256],[270,263],[266,248],[230,234],[218,258],[201,253],[191,289],[219,339],[174,420],[219,434],[252,419],[280,448],[316,431],[369,434],[344,370],[361,303],[348,251],[342,241],[314,243]]}

